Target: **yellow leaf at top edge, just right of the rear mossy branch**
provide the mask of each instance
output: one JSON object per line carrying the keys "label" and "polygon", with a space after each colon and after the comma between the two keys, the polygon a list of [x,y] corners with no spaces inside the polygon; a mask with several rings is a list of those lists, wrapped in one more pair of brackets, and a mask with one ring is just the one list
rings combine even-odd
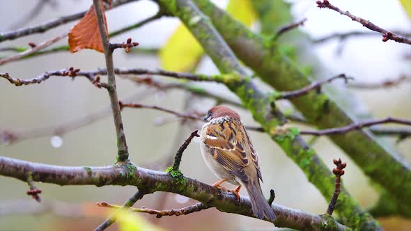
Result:
{"label": "yellow leaf at top edge, just right of the rear mossy branch", "polygon": [[227,12],[246,26],[251,26],[257,18],[251,0],[230,0]]}

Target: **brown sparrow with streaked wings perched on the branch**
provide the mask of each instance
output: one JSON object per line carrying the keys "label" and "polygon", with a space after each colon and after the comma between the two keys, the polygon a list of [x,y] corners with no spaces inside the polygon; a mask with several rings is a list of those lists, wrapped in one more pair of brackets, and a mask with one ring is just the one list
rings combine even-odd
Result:
{"label": "brown sparrow with streaked wings perched on the branch", "polygon": [[[214,106],[204,120],[206,124],[200,135],[201,154],[208,168],[221,179],[212,186],[234,193],[238,200],[238,191],[245,186],[254,215],[275,221],[274,211],[261,190],[263,177],[257,152],[238,113],[226,106]],[[237,185],[237,188],[227,190],[220,186],[223,182]]]}

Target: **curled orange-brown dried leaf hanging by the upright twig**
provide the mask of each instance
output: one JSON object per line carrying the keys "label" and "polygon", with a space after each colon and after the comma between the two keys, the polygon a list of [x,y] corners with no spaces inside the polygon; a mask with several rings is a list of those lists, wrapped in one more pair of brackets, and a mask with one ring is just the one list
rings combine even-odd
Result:
{"label": "curled orange-brown dried leaf hanging by the upright twig", "polygon": [[[107,19],[104,12],[104,4],[102,4],[104,24],[107,30]],[[108,36],[108,35],[107,35]],[[100,31],[98,29],[97,15],[95,15],[94,7],[91,5],[90,10],[84,15],[82,20],[75,24],[68,33],[68,46],[70,52],[75,53],[82,49],[93,49],[104,53]]]}

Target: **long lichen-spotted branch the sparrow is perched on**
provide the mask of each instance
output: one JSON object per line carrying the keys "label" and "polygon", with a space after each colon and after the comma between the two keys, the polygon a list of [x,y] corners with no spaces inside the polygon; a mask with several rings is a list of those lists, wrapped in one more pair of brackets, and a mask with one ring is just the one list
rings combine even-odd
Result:
{"label": "long lichen-spotted branch the sparrow is perched on", "polygon": [[[219,190],[189,177],[175,180],[168,173],[139,168],[131,163],[119,163],[105,167],[66,167],[48,164],[36,164],[8,157],[0,157],[0,175],[26,181],[26,174],[31,172],[33,181],[59,185],[133,185],[144,189],[146,193],[169,191],[194,200],[199,200],[210,207],[217,207],[222,212],[254,217],[249,198],[242,196],[240,202],[232,193]],[[297,230],[320,230],[322,217],[316,214],[290,209],[281,205],[272,205],[277,220],[274,225]],[[348,230],[345,226],[334,223],[333,230]]]}

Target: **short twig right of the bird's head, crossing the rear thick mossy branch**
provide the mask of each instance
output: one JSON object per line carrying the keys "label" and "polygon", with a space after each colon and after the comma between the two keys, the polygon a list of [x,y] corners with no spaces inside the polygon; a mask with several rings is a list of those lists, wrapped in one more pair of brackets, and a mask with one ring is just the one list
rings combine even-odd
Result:
{"label": "short twig right of the bird's head, crossing the rear thick mossy branch", "polygon": [[311,90],[317,90],[317,92],[320,92],[321,86],[323,86],[325,83],[331,83],[335,79],[344,79],[344,81],[347,83],[348,80],[353,79],[352,77],[346,77],[346,74],[339,74],[335,77],[331,77],[329,79],[325,79],[322,81],[315,81],[311,83],[309,86],[306,86],[304,88],[300,88],[298,90],[292,90],[288,92],[281,93],[276,97],[276,99],[294,99],[296,97],[300,97],[302,95],[306,95],[309,93]]}

